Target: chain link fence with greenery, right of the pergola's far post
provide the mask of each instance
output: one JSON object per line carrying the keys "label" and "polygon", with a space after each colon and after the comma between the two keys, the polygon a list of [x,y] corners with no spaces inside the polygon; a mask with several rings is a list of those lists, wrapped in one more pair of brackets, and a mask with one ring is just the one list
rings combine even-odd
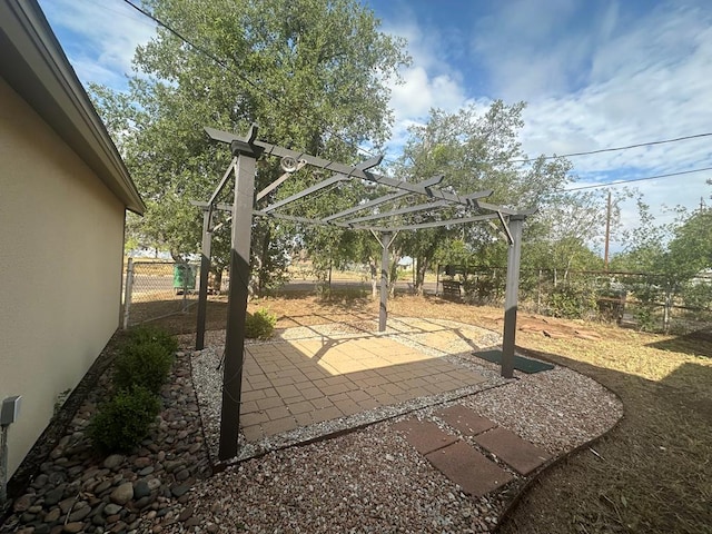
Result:
{"label": "chain link fence with greenery, right of the pergola's far post", "polygon": [[[451,294],[457,284],[455,294],[466,303],[500,306],[506,267],[448,266],[441,283],[449,285]],[[664,276],[647,273],[522,269],[520,308],[647,332],[688,333],[712,326],[712,278],[671,286]]]}

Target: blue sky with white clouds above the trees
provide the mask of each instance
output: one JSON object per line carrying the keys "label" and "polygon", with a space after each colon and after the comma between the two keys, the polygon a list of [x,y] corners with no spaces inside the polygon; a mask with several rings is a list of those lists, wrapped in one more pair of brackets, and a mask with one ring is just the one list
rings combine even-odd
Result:
{"label": "blue sky with white clouds above the trees", "polygon": [[[708,0],[364,0],[405,37],[413,65],[393,87],[389,155],[432,107],[524,100],[524,150],[571,154],[712,131]],[[40,0],[83,82],[115,88],[154,24],[122,0]],[[712,167],[712,137],[571,158],[578,186]],[[712,171],[636,186],[657,220],[694,208]],[[635,211],[624,211],[626,226]]]}

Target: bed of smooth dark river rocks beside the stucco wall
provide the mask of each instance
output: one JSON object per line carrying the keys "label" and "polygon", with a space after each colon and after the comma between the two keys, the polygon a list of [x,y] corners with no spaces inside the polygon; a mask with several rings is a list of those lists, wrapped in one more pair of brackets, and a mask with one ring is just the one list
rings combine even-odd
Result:
{"label": "bed of smooth dark river rocks beside the stucco wall", "polygon": [[[192,481],[209,463],[199,432],[189,356],[177,358],[171,373],[174,378],[161,393],[164,412],[149,437],[134,454],[97,458],[85,431],[108,389],[110,373],[105,373],[58,446],[38,464],[28,490],[12,502],[12,514],[0,532],[152,532],[155,526],[164,530],[154,520],[160,523],[168,516],[175,523],[182,510],[178,500],[188,498]],[[176,475],[182,481],[176,481]],[[171,492],[174,481],[178,484]]]}

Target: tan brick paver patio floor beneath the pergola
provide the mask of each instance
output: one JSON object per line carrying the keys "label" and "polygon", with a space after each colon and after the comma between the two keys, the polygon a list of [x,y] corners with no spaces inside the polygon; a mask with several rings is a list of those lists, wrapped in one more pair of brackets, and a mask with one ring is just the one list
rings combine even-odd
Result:
{"label": "tan brick paver patio floor beneath the pergola", "polygon": [[388,336],[248,345],[240,424],[249,442],[482,382],[477,373]]}

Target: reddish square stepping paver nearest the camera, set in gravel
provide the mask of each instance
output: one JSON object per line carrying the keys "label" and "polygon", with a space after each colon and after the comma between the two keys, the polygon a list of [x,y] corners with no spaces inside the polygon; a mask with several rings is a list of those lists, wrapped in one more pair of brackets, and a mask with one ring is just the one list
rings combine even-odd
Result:
{"label": "reddish square stepping paver nearest the camera, set in gravel", "polygon": [[475,497],[503,486],[512,475],[464,442],[457,442],[425,456],[463,492]]}

